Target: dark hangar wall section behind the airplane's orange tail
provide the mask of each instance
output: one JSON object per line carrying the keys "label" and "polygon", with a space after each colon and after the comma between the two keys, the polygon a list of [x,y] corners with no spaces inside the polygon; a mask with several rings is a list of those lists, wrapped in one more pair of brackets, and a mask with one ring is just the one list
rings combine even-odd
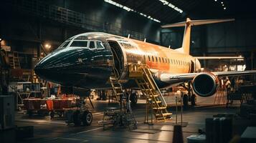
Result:
{"label": "dark hangar wall section behind the airplane's orange tail", "polygon": [[[193,26],[191,54],[254,51],[256,46],[255,24],[255,19],[237,19],[229,23]],[[182,44],[183,34],[184,28],[162,29],[161,45],[171,45],[174,49],[179,48]]]}

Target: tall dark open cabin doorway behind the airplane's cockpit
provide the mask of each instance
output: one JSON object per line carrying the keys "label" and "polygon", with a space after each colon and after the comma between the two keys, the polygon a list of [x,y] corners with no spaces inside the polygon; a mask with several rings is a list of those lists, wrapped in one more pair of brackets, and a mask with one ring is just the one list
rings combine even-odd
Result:
{"label": "tall dark open cabin doorway behind the airplane's cockpit", "polygon": [[123,72],[123,51],[117,41],[108,41],[113,54],[113,72],[115,77],[120,78]]}

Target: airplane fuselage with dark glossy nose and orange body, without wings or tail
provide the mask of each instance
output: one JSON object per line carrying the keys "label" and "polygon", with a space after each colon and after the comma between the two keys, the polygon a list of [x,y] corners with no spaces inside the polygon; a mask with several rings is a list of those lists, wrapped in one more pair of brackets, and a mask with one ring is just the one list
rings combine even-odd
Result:
{"label": "airplane fuselage with dark glossy nose and orange body, without wings or tail", "polygon": [[[113,70],[120,79],[125,79],[128,64],[147,64],[160,88],[169,86],[161,82],[161,74],[190,73],[201,68],[193,56],[174,49],[122,36],[89,32],[67,39],[39,61],[34,70],[39,77],[50,82],[100,89],[110,87],[108,79]],[[136,86],[130,82],[127,85]]]}

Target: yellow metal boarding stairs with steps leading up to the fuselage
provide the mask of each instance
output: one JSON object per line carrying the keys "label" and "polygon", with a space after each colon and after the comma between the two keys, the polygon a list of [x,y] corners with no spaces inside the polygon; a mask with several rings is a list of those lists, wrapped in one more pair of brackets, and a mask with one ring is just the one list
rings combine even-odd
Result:
{"label": "yellow metal boarding stairs with steps leading up to the fuselage", "polygon": [[129,65],[129,77],[135,79],[141,92],[146,96],[147,103],[150,104],[148,107],[151,107],[153,110],[156,120],[166,121],[166,119],[170,119],[172,113],[166,109],[167,104],[165,99],[163,99],[163,95],[160,89],[158,89],[148,66],[144,64]]}

